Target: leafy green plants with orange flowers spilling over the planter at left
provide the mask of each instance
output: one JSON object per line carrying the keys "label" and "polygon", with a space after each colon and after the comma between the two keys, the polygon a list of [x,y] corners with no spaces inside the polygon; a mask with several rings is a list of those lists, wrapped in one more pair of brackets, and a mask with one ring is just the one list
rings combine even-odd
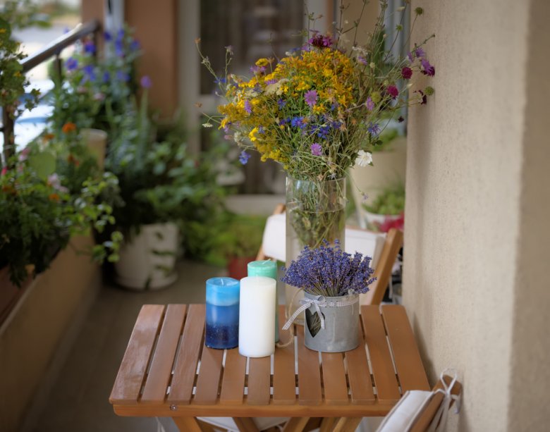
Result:
{"label": "leafy green plants with orange flowers spilling over the planter at left", "polygon": [[[60,175],[37,173],[32,168],[30,162],[40,161],[44,154],[47,159],[54,154],[55,161],[66,157],[64,152],[58,154],[35,144],[10,161],[13,168],[4,168],[0,176],[0,268],[9,266],[16,285],[27,278],[27,265],[34,266],[34,275],[47,269],[56,252],[68,245],[71,235],[90,229],[102,232],[114,223],[111,205],[101,198],[116,191],[114,175],[90,176],[76,187],[63,169]],[[85,252],[97,261],[116,259],[120,241],[120,233],[114,233],[104,244]]]}

